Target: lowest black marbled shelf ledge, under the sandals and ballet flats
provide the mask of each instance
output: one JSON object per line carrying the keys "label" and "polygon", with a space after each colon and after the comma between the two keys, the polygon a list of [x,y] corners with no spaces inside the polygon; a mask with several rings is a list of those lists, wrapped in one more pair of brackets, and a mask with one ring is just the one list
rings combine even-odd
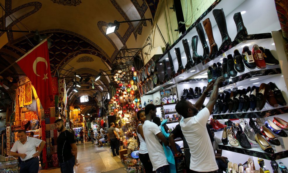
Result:
{"label": "lowest black marbled shelf ledge, under the sandals and ballet flats", "polygon": [[234,153],[241,153],[245,155],[251,155],[254,157],[259,157],[267,160],[279,160],[288,157],[288,151],[281,151],[281,152],[275,152],[274,154],[269,154],[263,151],[260,147],[245,149],[242,148],[241,146],[231,146],[229,144],[227,145],[218,144],[218,147],[219,149],[222,150],[232,151]]}

